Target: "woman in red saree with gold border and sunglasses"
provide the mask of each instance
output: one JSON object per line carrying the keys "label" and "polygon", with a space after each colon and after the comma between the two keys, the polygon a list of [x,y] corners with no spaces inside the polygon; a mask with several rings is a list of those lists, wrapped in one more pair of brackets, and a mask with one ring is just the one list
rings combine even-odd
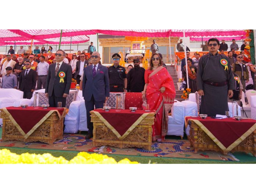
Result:
{"label": "woman in red saree with gold border and sunglasses", "polygon": [[142,92],[143,100],[147,101],[150,110],[156,111],[156,119],[152,126],[153,141],[164,141],[168,131],[168,112],[175,99],[173,78],[162,66],[159,54],[150,58],[150,68],[145,71],[145,87]]}

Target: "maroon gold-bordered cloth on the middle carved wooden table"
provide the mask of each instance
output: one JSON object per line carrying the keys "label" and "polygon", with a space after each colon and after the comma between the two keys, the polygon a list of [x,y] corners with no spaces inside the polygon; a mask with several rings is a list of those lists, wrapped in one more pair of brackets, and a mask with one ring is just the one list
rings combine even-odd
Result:
{"label": "maroon gold-bordered cloth on the middle carved wooden table", "polygon": [[136,112],[131,112],[130,110],[115,111],[115,109],[111,109],[109,112],[95,109],[93,112],[120,140],[129,135],[148,114],[154,114],[154,111],[136,110]]}

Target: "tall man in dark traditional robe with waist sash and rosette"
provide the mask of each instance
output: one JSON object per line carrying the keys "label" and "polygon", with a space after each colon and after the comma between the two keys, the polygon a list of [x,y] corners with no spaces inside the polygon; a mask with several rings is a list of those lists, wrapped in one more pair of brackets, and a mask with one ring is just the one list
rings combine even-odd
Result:
{"label": "tall man in dark traditional robe with waist sash and rosette", "polygon": [[218,54],[220,42],[216,38],[208,41],[209,54],[199,60],[196,85],[202,96],[200,114],[216,116],[228,111],[228,97],[235,90],[234,75],[227,56]]}

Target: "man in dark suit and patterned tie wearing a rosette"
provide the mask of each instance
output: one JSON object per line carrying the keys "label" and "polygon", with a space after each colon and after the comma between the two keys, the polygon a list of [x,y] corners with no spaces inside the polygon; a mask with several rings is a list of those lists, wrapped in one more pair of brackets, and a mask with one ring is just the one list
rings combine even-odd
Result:
{"label": "man in dark suit and patterned tie wearing a rosette", "polygon": [[58,102],[66,106],[66,97],[69,94],[72,78],[71,65],[63,62],[65,52],[58,50],[55,54],[56,63],[49,66],[45,95],[49,99],[50,107],[57,107]]}

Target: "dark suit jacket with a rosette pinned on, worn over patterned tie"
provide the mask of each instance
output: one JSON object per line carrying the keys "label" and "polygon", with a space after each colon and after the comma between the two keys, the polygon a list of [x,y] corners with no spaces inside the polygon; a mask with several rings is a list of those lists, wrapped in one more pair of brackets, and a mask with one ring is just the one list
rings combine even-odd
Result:
{"label": "dark suit jacket with a rosette pinned on, worn over patterned tie", "polygon": [[56,63],[49,65],[45,84],[45,93],[48,93],[48,96],[53,96],[54,91],[55,97],[62,97],[64,93],[69,94],[72,79],[72,68],[71,65],[64,62],[61,64],[58,73],[61,71],[65,73],[63,83],[61,82],[61,78],[58,74],[55,76],[55,67]]}

